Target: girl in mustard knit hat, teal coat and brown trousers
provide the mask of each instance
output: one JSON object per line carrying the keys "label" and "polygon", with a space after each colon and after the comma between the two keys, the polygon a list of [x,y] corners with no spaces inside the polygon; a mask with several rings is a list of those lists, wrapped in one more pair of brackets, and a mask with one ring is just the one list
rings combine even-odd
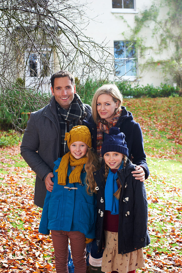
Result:
{"label": "girl in mustard knit hat, teal coat and brown trousers", "polygon": [[90,185],[98,169],[86,126],[65,134],[70,152],[54,162],[53,191],[47,191],[39,232],[51,236],[57,273],[68,273],[68,239],[75,273],[86,272],[86,243],[96,237],[97,205]]}

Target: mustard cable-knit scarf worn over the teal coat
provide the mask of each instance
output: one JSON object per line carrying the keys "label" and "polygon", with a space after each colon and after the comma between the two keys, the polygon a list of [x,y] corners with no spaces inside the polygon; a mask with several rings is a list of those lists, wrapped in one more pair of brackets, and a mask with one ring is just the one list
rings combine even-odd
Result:
{"label": "mustard cable-knit scarf worn over the teal coat", "polygon": [[80,174],[83,169],[83,165],[87,162],[87,157],[84,156],[80,159],[74,158],[71,152],[66,153],[59,164],[59,168],[56,170],[58,172],[58,185],[66,185],[66,178],[68,172],[68,163],[70,162],[70,166],[75,166],[74,170],[70,173],[69,182],[74,183],[82,183],[80,180]]}

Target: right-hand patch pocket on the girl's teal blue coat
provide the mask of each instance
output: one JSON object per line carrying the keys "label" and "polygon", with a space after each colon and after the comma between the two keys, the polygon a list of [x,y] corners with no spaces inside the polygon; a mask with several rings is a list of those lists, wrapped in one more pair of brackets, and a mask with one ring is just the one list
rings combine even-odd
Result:
{"label": "right-hand patch pocket on the girl's teal blue coat", "polygon": [[93,204],[81,202],[79,210],[79,221],[92,225],[94,223],[95,209]]}

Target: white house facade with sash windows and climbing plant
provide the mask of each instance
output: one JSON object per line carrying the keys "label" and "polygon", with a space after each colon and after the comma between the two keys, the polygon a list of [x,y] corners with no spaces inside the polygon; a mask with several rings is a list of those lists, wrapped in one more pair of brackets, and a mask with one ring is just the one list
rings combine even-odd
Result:
{"label": "white house facade with sash windows and climbing plant", "polygon": [[[167,21],[169,11],[169,6],[165,6],[164,1],[172,2],[172,0],[91,0],[86,3],[84,0],[73,0],[75,5],[77,1],[83,4],[86,15],[83,18],[85,20],[83,33],[98,44],[106,44],[114,56],[116,76],[114,71],[113,73],[111,71],[109,75],[111,81],[117,81],[117,76],[120,76],[123,81],[139,83],[141,86],[147,84],[159,86],[161,83],[176,85],[173,71],[166,70],[167,72],[164,73],[164,68],[166,69],[167,66],[166,60],[171,61],[176,52],[175,42],[171,39],[171,42],[166,41],[165,44],[166,36],[163,35],[163,31],[165,32],[163,24],[165,25]],[[163,5],[159,2],[163,2]],[[152,18],[152,16],[155,17],[155,9],[157,17]],[[143,11],[147,10],[151,10],[147,16],[149,19],[151,16],[152,19],[146,19],[145,15],[145,20],[143,22],[141,20],[141,25],[139,24],[137,29],[136,16],[140,18]],[[156,22],[159,19],[161,23],[158,28],[156,27],[158,22],[156,23],[155,19]],[[175,25],[171,33],[174,29]],[[58,56],[58,50],[45,51],[43,57],[39,57],[36,52],[28,56],[26,85],[31,87],[37,76],[40,76],[43,89],[50,90],[48,82],[50,82],[51,74],[47,66],[50,68],[49,71],[59,70],[61,55],[60,58]],[[82,66],[81,69],[83,69]],[[83,73],[80,71],[81,74],[83,75],[84,71]],[[79,75],[76,76],[79,77]],[[89,76],[92,78],[93,75]],[[93,78],[96,77],[93,76]]]}

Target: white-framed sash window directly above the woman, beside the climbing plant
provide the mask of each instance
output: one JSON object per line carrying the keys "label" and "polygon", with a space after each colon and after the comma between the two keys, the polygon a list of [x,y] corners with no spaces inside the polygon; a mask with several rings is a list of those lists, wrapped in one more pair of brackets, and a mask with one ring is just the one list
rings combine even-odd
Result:
{"label": "white-framed sash window directly above the woman, beside the climbing plant", "polygon": [[136,78],[135,44],[129,41],[114,41],[114,59],[116,74],[125,78]]}

